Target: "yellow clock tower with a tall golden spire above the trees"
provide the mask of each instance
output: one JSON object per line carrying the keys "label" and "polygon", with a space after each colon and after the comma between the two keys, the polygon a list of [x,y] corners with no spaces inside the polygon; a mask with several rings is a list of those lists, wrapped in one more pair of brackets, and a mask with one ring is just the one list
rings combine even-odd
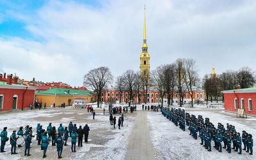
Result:
{"label": "yellow clock tower with a tall golden spire above the trees", "polygon": [[147,35],[146,35],[146,6],[144,6],[144,31],[143,31],[143,45],[140,54],[140,73],[141,76],[147,76],[150,72],[150,56],[148,54]]}

